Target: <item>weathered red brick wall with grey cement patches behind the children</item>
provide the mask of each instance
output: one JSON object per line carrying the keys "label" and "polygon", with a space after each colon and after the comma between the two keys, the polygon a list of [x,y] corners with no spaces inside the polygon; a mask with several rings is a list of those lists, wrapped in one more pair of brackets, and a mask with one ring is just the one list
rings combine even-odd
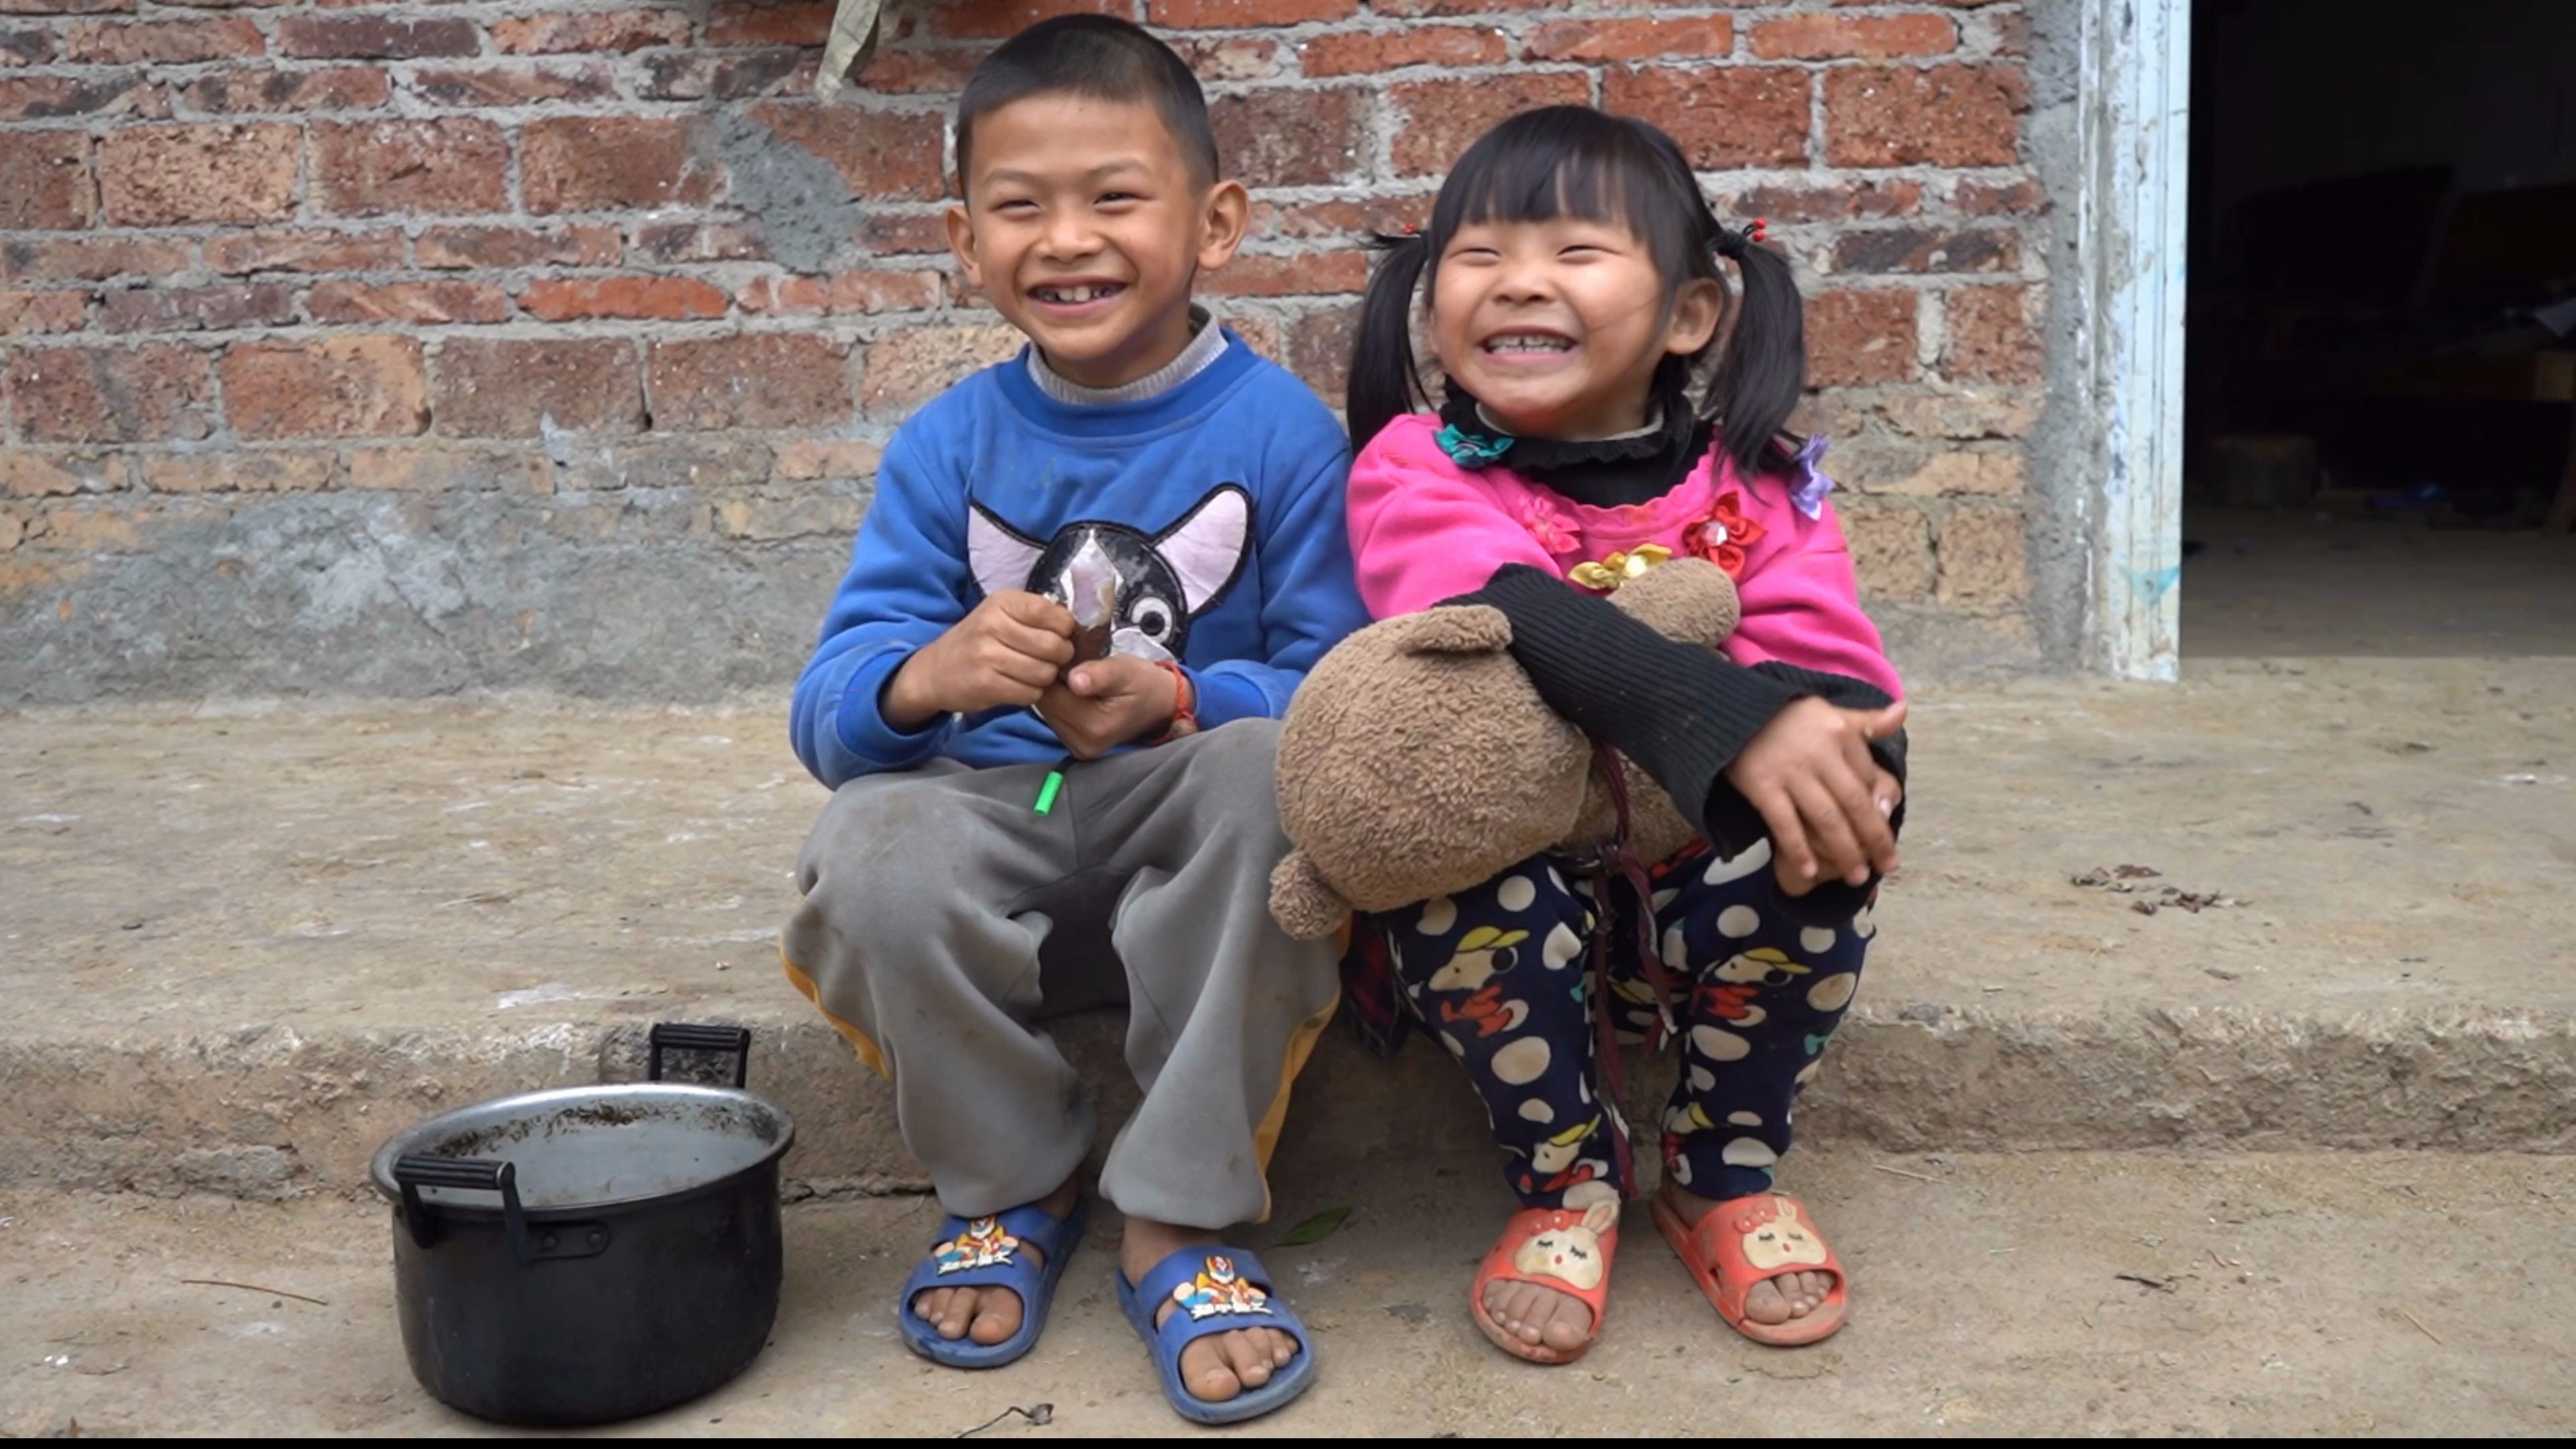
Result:
{"label": "weathered red brick wall with grey cement patches behind the children", "polygon": [[1352,237],[1489,121],[1662,121],[1803,268],[1873,606],[2027,639],[2017,3],[899,0],[824,108],[822,0],[0,0],[0,701],[793,670],[884,436],[1015,343],[956,85],[1077,5],[1208,83],[1213,289],[1327,397]]}

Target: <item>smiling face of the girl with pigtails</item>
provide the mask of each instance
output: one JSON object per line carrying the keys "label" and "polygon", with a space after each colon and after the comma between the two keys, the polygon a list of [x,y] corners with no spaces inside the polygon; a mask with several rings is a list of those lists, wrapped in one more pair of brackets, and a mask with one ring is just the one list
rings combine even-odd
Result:
{"label": "smiling face of the girl with pigtails", "polygon": [[1674,294],[1615,222],[1471,222],[1432,273],[1432,348],[1522,438],[1607,438],[1649,423],[1654,369],[1718,327],[1718,284]]}

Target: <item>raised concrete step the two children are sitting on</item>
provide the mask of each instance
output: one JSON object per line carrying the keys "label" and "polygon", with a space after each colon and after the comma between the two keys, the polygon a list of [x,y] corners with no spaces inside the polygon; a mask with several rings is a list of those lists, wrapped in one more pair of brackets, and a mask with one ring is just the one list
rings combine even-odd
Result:
{"label": "raised concrete step the two children are sitting on", "polygon": [[[2576,660],[1935,691],[1914,758],[1803,1140],[2576,1147]],[[719,1018],[806,1181],[917,1186],[778,975],[822,792],[775,706],[36,712],[0,761],[0,1183],[345,1189],[420,1116]],[[2161,874],[2071,884],[2123,864]],[[2136,910],[2164,887],[2226,905]],[[1113,1122],[1115,1031],[1064,1029]],[[1316,1163],[1481,1134],[1437,1052],[1340,1031],[1291,1116]]]}

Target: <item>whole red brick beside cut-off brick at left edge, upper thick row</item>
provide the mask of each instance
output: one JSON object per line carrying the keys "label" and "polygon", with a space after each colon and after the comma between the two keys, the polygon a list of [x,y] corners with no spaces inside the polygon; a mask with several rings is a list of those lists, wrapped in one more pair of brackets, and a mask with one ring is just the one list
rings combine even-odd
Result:
{"label": "whole red brick beside cut-off brick at left edge, upper thick row", "polygon": [[98,199],[118,227],[281,222],[296,211],[296,129],[121,126],[98,144]]}

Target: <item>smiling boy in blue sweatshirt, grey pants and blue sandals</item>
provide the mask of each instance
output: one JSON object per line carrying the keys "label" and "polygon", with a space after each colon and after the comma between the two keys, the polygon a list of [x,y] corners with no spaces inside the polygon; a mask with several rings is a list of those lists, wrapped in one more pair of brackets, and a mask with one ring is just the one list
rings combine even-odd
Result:
{"label": "smiling boy in blue sweatshirt, grey pants and blue sandals", "polygon": [[[796,753],[837,794],[788,977],[894,1078],[953,1214],[896,1318],[958,1366],[1036,1343],[1082,1240],[1092,1109],[1030,1021],[1128,1003],[1144,1104],[1100,1171],[1126,1212],[1118,1297],[1180,1413],[1252,1418],[1314,1377],[1216,1230],[1267,1217],[1288,1083],[1337,1000],[1332,949],[1267,900],[1275,722],[1365,621],[1347,446],[1190,302],[1249,196],[1162,41],[1033,26],[969,80],[956,160],[948,240],[1030,348],[886,449],[796,683]],[[1077,621],[1100,578],[1115,614]]]}

